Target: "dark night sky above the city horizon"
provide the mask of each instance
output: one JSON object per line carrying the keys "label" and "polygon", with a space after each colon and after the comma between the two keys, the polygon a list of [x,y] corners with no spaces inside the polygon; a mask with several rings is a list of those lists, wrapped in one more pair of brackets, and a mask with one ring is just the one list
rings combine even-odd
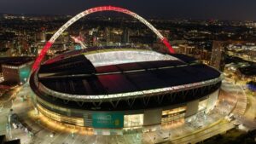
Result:
{"label": "dark night sky above the city horizon", "polygon": [[3,14],[78,14],[101,5],[143,17],[256,20],[256,0],[0,0]]}

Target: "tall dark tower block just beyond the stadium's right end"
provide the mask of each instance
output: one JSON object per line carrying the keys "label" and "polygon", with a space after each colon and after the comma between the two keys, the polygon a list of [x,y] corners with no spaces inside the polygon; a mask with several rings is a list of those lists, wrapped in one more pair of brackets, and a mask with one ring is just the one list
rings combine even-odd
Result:
{"label": "tall dark tower block just beyond the stadium's right end", "polygon": [[211,66],[220,71],[224,70],[224,42],[212,42]]}

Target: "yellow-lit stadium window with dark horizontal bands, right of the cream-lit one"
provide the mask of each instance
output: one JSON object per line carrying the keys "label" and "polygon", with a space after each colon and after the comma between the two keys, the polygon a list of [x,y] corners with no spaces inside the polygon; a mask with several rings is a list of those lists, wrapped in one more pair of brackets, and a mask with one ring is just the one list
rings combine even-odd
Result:
{"label": "yellow-lit stadium window with dark horizontal bands, right of the cream-lit one", "polygon": [[185,117],[186,107],[178,107],[171,110],[162,111],[162,124],[175,123]]}

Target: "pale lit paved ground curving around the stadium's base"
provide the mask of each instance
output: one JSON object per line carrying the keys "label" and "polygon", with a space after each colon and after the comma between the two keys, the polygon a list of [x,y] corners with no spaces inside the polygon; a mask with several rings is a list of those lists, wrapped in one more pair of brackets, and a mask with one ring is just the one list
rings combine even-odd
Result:
{"label": "pale lit paved ground curving around the stadium's base", "polygon": [[[32,92],[28,85],[24,86],[17,94],[15,101],[9,101],[3,105],[0,112],[0,134],[7,133],[6,123],[9,109],[13,108],[14,112],[19,113],[19,116],[25,120],[32,131],[35,133],[30,137],[23,130],[12,130],[12,138],[20,138],[22,144],[79,144],[79,143],[195,143],[217,135],[234,127],[232,123],[224,120],[224,116],[231,111],[237,115],[242,115],[246,112],[247,97],[243,95],[241,87],[234,86],[231,83],[224,82],[223,91],[219,96],[218,107],[209,114],[198,113],[192,122],[185,122],[183,125],[172,126],[164,130],[159,130],[150,133],[138,133],[127,135],[91,135],[91,132],[74,132],[73,128],[66,128],[54,122],[44,124],[44,119],[38,121],[39,116],[33,111],[32,102],[29,98],[22,101],[20,95],[30,95]],[[0,107],[1,108],[1,107]],[[255,107],[250,107],[250,111],[255,112]],[[253,116],[252,116],[253,117]],[[47,121],[47,120],[45,120]],[[68,132],[69,131],[69,132]],[[55,132],[54,136],[50,136]]]}

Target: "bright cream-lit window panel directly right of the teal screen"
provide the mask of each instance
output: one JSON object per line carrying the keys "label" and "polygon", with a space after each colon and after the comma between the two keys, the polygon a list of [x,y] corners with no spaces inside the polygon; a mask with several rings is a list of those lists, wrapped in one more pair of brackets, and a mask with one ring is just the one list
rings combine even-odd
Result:
{"label": "bright cream-lit window panel directly right of the teal screen", "polygon": [[126,128],[143,126],[143,117],[144,114],[125,115],[124,126]]}

